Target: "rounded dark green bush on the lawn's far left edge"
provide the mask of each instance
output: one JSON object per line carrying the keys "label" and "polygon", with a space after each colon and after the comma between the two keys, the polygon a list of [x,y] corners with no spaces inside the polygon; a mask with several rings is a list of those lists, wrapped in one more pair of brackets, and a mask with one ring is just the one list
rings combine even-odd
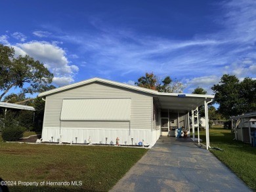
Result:
{"label": "rounded dark green bush on the lawn's far left edge", "polygon": [[5,126],[2,129],[2,138],[5,142],[14,142],[23,137],[24,131],[22,126]]}

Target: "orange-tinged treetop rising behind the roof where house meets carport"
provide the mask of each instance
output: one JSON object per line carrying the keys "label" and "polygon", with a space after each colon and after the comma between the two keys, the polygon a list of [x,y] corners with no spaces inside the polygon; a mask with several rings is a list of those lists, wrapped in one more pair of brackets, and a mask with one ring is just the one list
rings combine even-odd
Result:
{"label": "orange-tinged treetop rising behind the roof where house meets carport", "polygon": [[153,90],[158,90],[159,92],[182,92],[183,84],[177,79],[173,81],[171,77],[167,76],[163,81],[160,78],[156,77],[154,73],[146,73],[145,76],[142,76],[138,79],[138,82],[135,85],[150,88]]}

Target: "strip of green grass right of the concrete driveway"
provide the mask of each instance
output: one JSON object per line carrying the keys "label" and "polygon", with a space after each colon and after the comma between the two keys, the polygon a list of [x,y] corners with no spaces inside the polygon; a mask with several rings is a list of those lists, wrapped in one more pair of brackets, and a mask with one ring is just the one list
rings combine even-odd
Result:
{"label": "strip of green grass right of the concrete driveway", "polygon": [[[197,132],[196,132],[197,134]],[[210,149],[219,160],[256,191],[256,147],[236,141],[230,130],[213,127],[209,130],[210,146],[224,151]],[[205,142],[205,131],[200,131],[200,139]]]}

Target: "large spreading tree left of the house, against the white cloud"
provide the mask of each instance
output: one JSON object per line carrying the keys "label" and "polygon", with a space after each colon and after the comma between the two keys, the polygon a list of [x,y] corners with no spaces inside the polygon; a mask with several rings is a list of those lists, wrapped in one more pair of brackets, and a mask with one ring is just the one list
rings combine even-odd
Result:
{"label": "large spreading tree left of the house, against the white cloud", "polygon": [[0,44],[0,100],[14,88],[22,93],[39,92],[53,81],[53,73],[32,57],[14,58],[14,49]]}

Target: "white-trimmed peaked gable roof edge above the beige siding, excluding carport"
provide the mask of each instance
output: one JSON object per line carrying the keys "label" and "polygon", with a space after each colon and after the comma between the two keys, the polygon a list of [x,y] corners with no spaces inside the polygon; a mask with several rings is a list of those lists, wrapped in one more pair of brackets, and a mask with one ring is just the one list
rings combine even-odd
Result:
{"label": "white-trimmed peaked gable roof edge above the beige siding, excluding carport", "polygon": [[137,90],[137,91],[140,91],[140,92],[145,92],[145,93],[150,93],[150,94],[157,94],[158,91],[157,90],[152,90],[152,89],[149,89],[149,88],[142,88],[140,86],[133,86],[133,85],[128,85],[128,84],[125,84],[125,83],[119,83],[119,82],[116,82],[116,81],[109,81],[109,80],[106,80],[106,79],[100,79],[98,77],[95,77],[95,78],[92,78],[92,79],[87,79],[85,81],[80,81],[80,82],[77,82],[77,83],[74,83],[74,84],[71,84],[71,85],[66,85],[66,86],[61,86],[60,88],[54,88],[52,90],[48,90],[46,92],[41,92],[38,96],[47,96],[49,94],[54,94],[54,93],[57,93],[57,92],[61,92],[63,90],[68,90],[68,89],[71,89],[71,88],[75,88],[77,86],[83,86],[83,85],[87,85],[89,83],[106,83],[108,85],[114,85],[114,86],[119,86],[119,87],[123,87],[123,88],[129,88],[131,90]]}

